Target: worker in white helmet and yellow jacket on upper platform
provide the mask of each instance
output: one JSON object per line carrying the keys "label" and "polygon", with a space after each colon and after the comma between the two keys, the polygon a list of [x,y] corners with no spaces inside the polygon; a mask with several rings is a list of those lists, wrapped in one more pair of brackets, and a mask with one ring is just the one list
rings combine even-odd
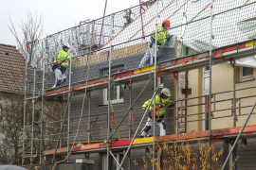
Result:
{"label": "worker in white helmet and yellow jacket on upper platform", "polygon": [[59,51],[57,58],[54,60],[52,70],[55,73],[55,84],[52,88],[64,85],[66,80],[65,71],[67,68],[67,62],[70,59],[68,55],[69,43],[64,43],[63,48]]}

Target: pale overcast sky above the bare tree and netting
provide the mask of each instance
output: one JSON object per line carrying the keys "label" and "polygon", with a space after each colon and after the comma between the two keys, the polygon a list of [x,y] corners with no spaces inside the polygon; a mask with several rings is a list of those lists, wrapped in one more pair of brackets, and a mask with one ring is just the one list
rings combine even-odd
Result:
{"label": "pale overcast sky above the bare tree and netting", "polygon": [[[138,4],[139,0],[107,0],[106,15]],[[21,21],[27,20],[27,11],[33,15],[42,15],[44,38],[79,25],[80,21],[101,18],[104,6],[105,0],[1,0],[0,43],[16,45],[9,31],[9,18],[19,28]]]}

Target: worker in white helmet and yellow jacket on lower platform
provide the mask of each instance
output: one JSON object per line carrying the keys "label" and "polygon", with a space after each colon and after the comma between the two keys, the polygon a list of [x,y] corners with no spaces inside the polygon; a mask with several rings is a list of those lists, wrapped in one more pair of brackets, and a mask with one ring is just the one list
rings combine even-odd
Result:
{"label": "worker in white helmet and yellow jacket on lower platform", "polygon": [[[171,92],[168,88],[163,88],[161,93],[155,95],[155,120],[158,127],[160,127],[160,136],[166,135],[166,125],[163,121],[165,108],[174,106],[174,102],[169,98]],[[142,106],[142,110],[145,112],[147,107],[150,105],[151,99],[147,100]],[[150,110],[148,111],[148,121],[145,127],[140,132],[140,137],[147,136],[147,132],[153,127],[153,114],[154,114],[154,100],[151,103]]]}

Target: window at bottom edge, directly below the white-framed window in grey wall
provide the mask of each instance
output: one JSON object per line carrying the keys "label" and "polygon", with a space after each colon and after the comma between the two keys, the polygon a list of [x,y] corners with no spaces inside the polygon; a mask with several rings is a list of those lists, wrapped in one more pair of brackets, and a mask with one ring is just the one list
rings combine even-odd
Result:
{"label": "window at bottom edge, directly below the white-framed window in grey wall", "polygon": [[[123,154],[122,153],[113,153],[113,155],[116,157],[117,161],[122,161]],[[107,154],[102,155],[102,170],[119,170],[119,165],[117,161],[114,160],[114,158],[110,155],[109,156],[109,168],[106,167],[107,164]]]}

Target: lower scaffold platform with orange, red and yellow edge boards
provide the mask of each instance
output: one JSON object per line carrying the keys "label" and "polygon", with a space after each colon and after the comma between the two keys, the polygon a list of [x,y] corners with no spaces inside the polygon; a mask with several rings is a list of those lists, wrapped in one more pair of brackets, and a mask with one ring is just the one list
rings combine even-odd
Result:
{"label": "lower scaffold platform with orange, red and yellow edge boards", "polygon": [[[211,130],[211,141],[214,143],[215,140],[229,139],[237,136],[242,127],[229,127],[229,128],[220,128]],[[256,135],[256,125],[245,127],[242,136],[255,136]],[[181,133],[181,134],[172,134],[166,136],[155,137],[155,143],[179,143],[181,141],[198,141],[198,140],[208,140],[209,139],[209,130],[205,131],[195,131],[191,133]],[[125,149],[131,144],[132,140],[123,140],[115,141],[110,143],[110,148],[115,149]],[[153,137],[147,138],[137,138],[133,142],[133,147],[145,147],[147,145],[153,144]],[[90,152],[99,152],[106,151],[107,143],[96,143],[96,144],[82,144],[79,146],[74,146],[72,148],[72,154],[83,154]],[[67,147],[58,148],[56,150],[56,155],[66,155],[68,151]],[[55,149],[44,151],[45,156],[54,155]]]}

